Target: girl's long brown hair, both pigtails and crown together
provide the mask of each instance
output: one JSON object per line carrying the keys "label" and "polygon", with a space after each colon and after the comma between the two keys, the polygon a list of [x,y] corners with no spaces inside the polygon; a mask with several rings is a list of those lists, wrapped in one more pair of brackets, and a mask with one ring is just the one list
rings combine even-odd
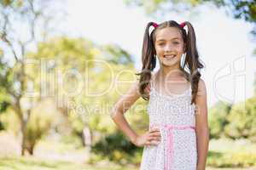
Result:
{"label": "girl's long brown hair, both pigtails and crown together", "polygon": [[[151,71],[154,70],[156,64],[156,52],[154,48],[155,31],[166,27],[176,27],[181,31],[183,42],[185,44],[185,57],[183,65],[181,65],[182,71],[184,72],[186,79],[191,82],[191,104],[195,103],[195,97],[198,91],[198,82],[201,77],[200,69],[203,68],[204,65],[202,65],[201,60],[199,59],[199,54],[197,52],[194,28],[191,23],[189,23],[189,21],[185,21],[184,24],[188,28],[188,33],[175,20],[168,20],[154,28],[154,30],[149,34],[149,28],[150,26],[154,25],[154,22],[148,22],[143,37],[143,68],[140,73],[137,73],[137,75],[140,76],[139,92],[143,99],[148,100],[148,94],[146,94],[145,88],[150,82],[152,76]],[[185,71],[185,69],[189,69],[189,73]]]}

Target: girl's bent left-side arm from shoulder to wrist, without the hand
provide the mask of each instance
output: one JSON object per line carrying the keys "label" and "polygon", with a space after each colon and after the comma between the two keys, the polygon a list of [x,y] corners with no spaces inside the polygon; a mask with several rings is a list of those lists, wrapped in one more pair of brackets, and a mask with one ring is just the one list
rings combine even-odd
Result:
{"label": "girl's bent left-side arm from shoulder to wrist, without the hand", "polygon": [[125,135],[131,140],[131,143],[135,144],[137,139],[137,133],[135,133],[129,123],[125,119],[125,111],[127,111],[132,104],[140,98],[138,91],[138,82],[134,83],[127,94],[125,94],[119,101],[114,105],[111,111],[111,117],[113,122],[119,127],[119,129],[125,133]]}

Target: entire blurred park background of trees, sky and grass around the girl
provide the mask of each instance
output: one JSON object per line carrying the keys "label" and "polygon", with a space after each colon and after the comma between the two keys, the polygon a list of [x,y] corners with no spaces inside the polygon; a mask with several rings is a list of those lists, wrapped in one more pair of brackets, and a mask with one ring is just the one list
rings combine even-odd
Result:
{"label": "entire blurred park background of trees, sky and grass around the girl", "polygon": [[[109,111],[138,78],[147,23],[165,20],[192,23],[206,65],[207,169],[256,169],[253,0],[1,0],[0,169],[138,169],[143,148]],[[125,113],[139,134],[146,109]]]}

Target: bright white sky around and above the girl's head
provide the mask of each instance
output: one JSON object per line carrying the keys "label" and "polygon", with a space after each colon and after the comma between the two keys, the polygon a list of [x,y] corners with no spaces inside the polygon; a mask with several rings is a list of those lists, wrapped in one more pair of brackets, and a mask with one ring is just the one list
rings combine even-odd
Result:
{"label": "bright white sky around and above the girl's head", "polygon": [[149,21],[189,20],[206,65],[201,78],[206,82],[208,105],[218,100],[231,104],[253,96],[256,42],[249,34],[252,26],[232,19],[222,8],[204,5],[192,14],[170,12],[152,18],[143,8],[127,7],[122,0],[67,0],[67,14],[62,27],[69,36],[85,37],[98,44],[118,44],[132,55],[137,71],[141,68],[143,33]]}

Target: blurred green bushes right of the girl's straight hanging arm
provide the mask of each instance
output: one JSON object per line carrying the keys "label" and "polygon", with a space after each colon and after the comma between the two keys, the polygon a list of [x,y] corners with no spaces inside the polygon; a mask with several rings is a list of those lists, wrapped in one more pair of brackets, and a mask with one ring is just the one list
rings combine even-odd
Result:
{"label": "blurred green bushes right of the girl's straight hanging arm", "polygon": [[231,139],[246,138],[256,141],[256,99],[247,99],[236,105],[222,102],[214,105],[209,111],[211,138],[229,137]]}

